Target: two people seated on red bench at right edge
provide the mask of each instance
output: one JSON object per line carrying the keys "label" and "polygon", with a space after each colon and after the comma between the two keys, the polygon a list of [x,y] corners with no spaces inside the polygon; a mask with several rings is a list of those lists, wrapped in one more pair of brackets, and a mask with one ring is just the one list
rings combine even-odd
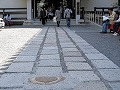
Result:
{"label": "two people seated on red bench at right edge", "polygon": [[103,21],[103,27],[101,33],[107,33],[107,29],[109,25],[113,25],[113,35],[118,35],[118,29],[120,27],[120,7],[118,7],[117,11],[115,12],[113,8],[109,8],[109,16],[108,19]]}

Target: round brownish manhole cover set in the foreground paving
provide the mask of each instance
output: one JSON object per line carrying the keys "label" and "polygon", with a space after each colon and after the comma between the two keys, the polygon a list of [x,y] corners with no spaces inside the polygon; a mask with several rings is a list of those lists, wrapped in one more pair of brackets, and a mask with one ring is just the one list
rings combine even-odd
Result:
{"label": "round brownish manhole cover set in the foreground paving", "polygon": [[40,85],[49,85],[58,83],[63,80],[65,80],[65,77],[36,77],[30,79],[30,82]]}

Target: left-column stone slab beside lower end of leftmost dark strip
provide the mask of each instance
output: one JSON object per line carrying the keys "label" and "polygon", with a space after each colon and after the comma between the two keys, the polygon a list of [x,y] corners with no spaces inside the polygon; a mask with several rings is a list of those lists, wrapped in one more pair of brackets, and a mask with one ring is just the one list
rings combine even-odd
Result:
{"label": "left-column stone slab beside lower end of leftmost dark strip", "polygon": [[34,62],[13,63],[6,72],[29,73],[32,71]]}

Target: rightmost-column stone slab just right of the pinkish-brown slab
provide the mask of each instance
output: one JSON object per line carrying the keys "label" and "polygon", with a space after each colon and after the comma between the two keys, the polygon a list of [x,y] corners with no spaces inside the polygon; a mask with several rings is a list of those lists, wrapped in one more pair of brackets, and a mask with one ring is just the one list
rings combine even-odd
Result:
{"label": "rightmost-column stone slab just right of the pinkish-brown slab", "polygon": [[88,59],[90,60],[95,60],[95,59],[108,59],[105,55],[103,54],[85,54]]}

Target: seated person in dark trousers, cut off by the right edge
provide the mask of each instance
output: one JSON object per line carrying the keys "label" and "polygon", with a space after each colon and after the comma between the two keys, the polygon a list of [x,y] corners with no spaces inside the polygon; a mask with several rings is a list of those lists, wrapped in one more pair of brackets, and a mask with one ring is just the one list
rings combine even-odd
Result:
{"label": "seated person in dark trousers, cut off by the right edge", "polygon": [[113,35],[114,36],[118,35],[117,31],[118,31],[119,27],[120,27],[120,7],[118,7],[118,9],[117,9],[116,20],[114,21],[114,24],[113,24],[113,33],[114,33]]}

